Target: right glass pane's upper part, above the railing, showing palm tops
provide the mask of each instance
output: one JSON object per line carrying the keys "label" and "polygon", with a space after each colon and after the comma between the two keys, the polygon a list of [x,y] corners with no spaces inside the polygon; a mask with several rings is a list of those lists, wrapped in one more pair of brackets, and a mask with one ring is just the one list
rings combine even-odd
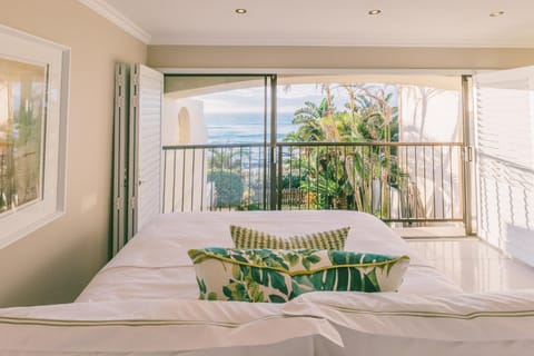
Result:
{"label": "right glass pane's upper part, above the railing, showing palm tops", "polygon": [[293,142],[461,142],[459,83],[457,76],[278,76],[278,132]]}

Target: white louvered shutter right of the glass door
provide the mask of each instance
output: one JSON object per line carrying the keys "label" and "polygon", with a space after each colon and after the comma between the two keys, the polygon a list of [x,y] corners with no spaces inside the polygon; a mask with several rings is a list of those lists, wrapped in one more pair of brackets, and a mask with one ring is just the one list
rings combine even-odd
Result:
{"label": "white louvered shutter right of the glass door", "polygon": [[478,234],[534,266],[534,67],[475,86]]}

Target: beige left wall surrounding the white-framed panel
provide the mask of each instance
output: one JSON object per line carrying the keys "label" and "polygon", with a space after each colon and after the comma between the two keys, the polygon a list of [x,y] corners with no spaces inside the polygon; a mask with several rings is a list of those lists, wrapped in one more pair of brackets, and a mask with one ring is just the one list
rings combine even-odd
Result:
{"label": "beige left wall surrounding the white-framed panel", "polygon": [[0,0],[0,23],[71,48],[67,209],[0,249],[0,306],[71,301],[108,259],[113,70],[147,47],[76,0]]}

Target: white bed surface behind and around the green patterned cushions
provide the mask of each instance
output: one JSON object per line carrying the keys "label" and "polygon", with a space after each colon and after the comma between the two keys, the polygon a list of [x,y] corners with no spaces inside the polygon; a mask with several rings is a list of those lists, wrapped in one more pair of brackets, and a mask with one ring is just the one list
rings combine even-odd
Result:
{"label": "white bed surface behind and around the green patterned cushions", "polygon": [[155,217],[97,274],[77,301],[197,299],[198,286],[187,250],[231,247],[230,224],[278,236],[350,226],[346,250],[411,257],[399,293],[443,295],[462,291],[392,229],[368,214],[338,210],[221,211]]}

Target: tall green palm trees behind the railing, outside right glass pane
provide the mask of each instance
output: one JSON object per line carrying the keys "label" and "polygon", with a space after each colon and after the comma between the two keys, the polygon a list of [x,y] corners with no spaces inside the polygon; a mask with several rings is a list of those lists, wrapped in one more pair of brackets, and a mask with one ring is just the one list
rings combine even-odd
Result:
{"label": "tall green palm trees behind the railing, outside right glass pane", "polygon": [[[295,111],[293,122],[299,125],[285,141],[300,142],[392,142],[398,140],[398,108],[392,86],[344,85],[348,102],[334,107],[329,85],[322,88],[325,98],[317,105],[306,101]],[[300,162],[286,161],[286,167],[305,167],[300,189],[313,197],[318,209],[352,208],[373,212],[374,200],[380,201],[379,212],[388,214],[385,196],[388,185],[397,181],[396,151],[388,146],[308,147]],[[373,198],[379,184],[379,199]],[[294,186],[294,185],[291,185]]]}

